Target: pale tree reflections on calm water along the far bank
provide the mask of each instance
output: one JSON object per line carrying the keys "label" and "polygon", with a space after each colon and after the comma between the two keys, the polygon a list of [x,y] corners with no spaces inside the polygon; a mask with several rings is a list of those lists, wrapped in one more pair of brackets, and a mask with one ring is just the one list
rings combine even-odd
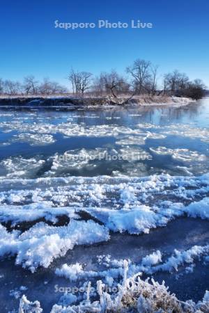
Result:
{"label": "pale tree reflections on calm water along the far bank", "polygon": [[[123,125],[131,127],[138,123],[151,123],[166,125],[168,123],[190,122],[204,110],[208,99],[202,99],[187,106],[101,106],[100,108],[75,109],[72,111],[32,111],[35,113],[33,122],[40,120],[59,120],[59,122],[70,121],[73,123],[84,122],[88,126],[93,125]],[[24,111],[24,113],[29,111]],[[27,115],[27,114],[26,114]],[[95,118],[93,116],[95,115]],[[134,116],[139,115],[139,116]],[[110,118],[110,119],[108,119]]]}

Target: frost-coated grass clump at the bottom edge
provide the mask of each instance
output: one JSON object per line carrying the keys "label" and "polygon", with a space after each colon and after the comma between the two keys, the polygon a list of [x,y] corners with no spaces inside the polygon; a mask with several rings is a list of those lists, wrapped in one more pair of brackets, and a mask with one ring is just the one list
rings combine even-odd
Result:
{"label": "frost-coated grass clump at the bottom edge", "polygon": [[[68,312],[170,312],[174,309],[176,312],[208,312],[209,309],[209,293],[206,291],[203,300],[194,303],[191,300],[186,302],[180,301],[174,294],[170,294],[168,288],[165,287],[164,282],[159,284],[155,280],[141,280],[141,273],[137,272],[130,278],[127,277],[129,265],[126,260],[123,262],[123,273],[121,273],[122,280],[118,284],[118,292],[114,295],[109,294],[105,289],[105,284],[97,281],[97,292],[99,300],[91,301],[91,283],[88,282],[88,289],[86,292],[86,299],[82,300],[78,305],[68,305],[70,302],[75,302],[72,294],[65,294],[63,297],[63,305],[55,304],[52,307],[51,313],[68,313]],[[73,297],[74,296],[74,297]],[[20,304],[27,303],[32,305],[25,296],[22,296]],[[38,301],[36,307],[40,307]],[[36,311],[35,311],[36,312]],[[40,311],[38,311],[40,312]]]}

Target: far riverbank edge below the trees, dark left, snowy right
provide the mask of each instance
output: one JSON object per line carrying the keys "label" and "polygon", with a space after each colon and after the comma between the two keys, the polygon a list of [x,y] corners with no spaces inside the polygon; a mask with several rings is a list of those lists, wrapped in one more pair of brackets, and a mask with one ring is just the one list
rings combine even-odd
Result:
{"label": "far riverbank edge below the trees, dark left, snowy right", "polygon": [[134,96],[134,97],[72,97],[71,96],[1,96],[4,107],[77,107],[77,106],[185,106],[194,100],[187,97]]}

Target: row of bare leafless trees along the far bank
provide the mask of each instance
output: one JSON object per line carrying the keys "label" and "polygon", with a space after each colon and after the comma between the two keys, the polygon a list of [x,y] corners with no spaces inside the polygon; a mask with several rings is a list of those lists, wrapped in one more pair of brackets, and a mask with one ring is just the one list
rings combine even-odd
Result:
{"label": "row of bare leafless trees along the far bank", "polygon": [[[159,83],[159,80],[161,81]],[[159,67],[150,61],[137,59],[128,66],[125,74],[116,70],[101,72],[93,76],[91,72],[79,72],[73,68],[68,73],[68,81],[73,95],[84,97],[114,97],[120,95],[176,95],[200,99],[206,86],[201,79],[191,81],[187,74],[178,70],[160,76]],[[56,81],[38,81],[33,75],[24,77],[23,83],[0,79],[0,95],[62,95],[69,94],[68,88]]]}

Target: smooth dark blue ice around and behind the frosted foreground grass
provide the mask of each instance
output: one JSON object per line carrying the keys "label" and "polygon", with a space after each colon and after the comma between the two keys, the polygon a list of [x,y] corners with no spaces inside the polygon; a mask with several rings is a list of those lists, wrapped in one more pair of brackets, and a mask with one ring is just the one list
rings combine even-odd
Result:
{"label": "smooth dark blue ice around and behind the frosted foreground grass", "polygon": [[[176,230],[178,230],[178,238],[176,238]],[[165,238],[167,238],[166,241]],[[123,246],[120,245],[121,239],[123,239]],[[105,273],[105,271],[107,271],[109,274],[113,274],[114,271],[121,271],[122,273],[123,265],[121,265],[121,260],[123,259],[130,259],[131,270],[134,264],[136,266],[141,264],[143,258],[145,262],[145,257],[153,254],[156,250],[160,250],[165,259],[167,259],[173,254],[173,248],[185,253],[184,251],[190,249],[194,245],[206,245],[208,242],[207,239],[207,220],[201,220],[198,218],[179,218],[173,220],[167,227],[152,230],[149,236],[146,234],[133,236],[116,233],[111,235],[111,240],[108,244],[100,243],[91,246],[76,246],[73,251],[68,251],[65,257],[55,259],[48,268],[39,268],[36,273],[31,273],[26,268],[15,265],[14,259],[11,257],[10,259],[7,259],[7,262],[1,263],[0,275],[3,275],[3,277],[1,277],[1,284],[3,285],[1,303],[3,307],[5,307],[5,311],[2,312],[8,312],[14,307],[17,308],[22,294],[25,294],[31,301],[36,299],[39,300],[44,312],[50,312],[55,303],[61,304],[60,298],[64,295],[61,291],[55,292],[56,285],[58,287],[81,287],[84,282],[91,280],[94,286],[95,280],[100,279],[100,275],[92,278],[91,274],[95,271],[98,271],[98,273]],[[105,255],[107,257],[108,255],[111,255],[112,262],[116,263],[115,260],[118,260],[118,266],[120,265],[122,268],[120,266],[117,267],[116,264],[115,266],[113,266],[113,264],[110,264],[111,266],[109,267],[105,266],[105,259],[102,259],[102,262],[96,262],[98,255]],[[153,259],[153,261],[155,260]],[[174,292],[179,300],[188,300],[189,298],[192,298],[192,300],[197,302],[203,298],[206,289],[208,289],[208,262],[203,264],[203,257],[201,257],[201,262],[199,262],[198,257],[194,259],[194,263],[192,262],[192,259],[191,262],[190,259],[188,259],[188,261],[189,264],[182,264],[182,266],[178,268],[178,271],[176,271],[175,268],[173,268],[171,273],[159,271],[154,275],[151,275],[151,277],[153,276],[155,281],[160,283],[162,280],[165,280],[166,286],[170,287],[169,290],[171,293]],[[69,278],[55,275],[54,272],[56,271],[56,268],[61,268],[65,263],[70,266],[77,262],[84,266],[84,272],[82,272],[84,275],[82,274],[83,277],[78,275],[78,280],[69,280]],[[148,257],[146,257],[146,263],[147,262]],[[107,262],[107,265],[108,264],[109,263]],[[148,264],[146,264],[146,266],[147,265]],[[191,265],[194,267],[193,272],[186,270],[187,266]],[[130,275],[132,275],[132,273],[130,273]],[[128,277],[130,275],[128,275]],[[148,274],[148,276],[150,275]],[[147,275],[143,275],[142,279],[145,280],[146,277]],[[104,277],[101,278],[104,280]],[[7,284],[8,281],[12,283]],[[20,289],[20,286],[23,286],[25,290],[23,287]],[[79,296],[78,294],[75,295]],[[85,299],[86,296],[85,294],[83,295]],[[93,296],[91,295],[91,300],[92,299]],[[66,298],[65,300],[68,299]],[[79,302],[80,300],[82,299],[79,299],[78,297],[77,301]],[[68,306],[69,304],[67,305],[66,303],[65,305]]]}

